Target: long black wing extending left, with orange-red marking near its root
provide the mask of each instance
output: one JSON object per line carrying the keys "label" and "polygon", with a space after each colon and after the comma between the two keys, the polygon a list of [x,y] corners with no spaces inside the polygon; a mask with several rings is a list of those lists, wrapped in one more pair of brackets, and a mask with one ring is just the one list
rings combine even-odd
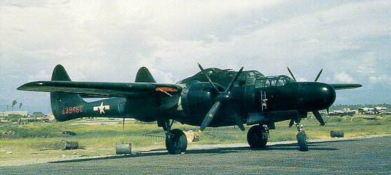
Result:
{"label": "long black wing extending left, with orange-red marking near its root", "polygon": [[182,91],[177,84],[158,83],[110,83],[110,82],[70,82],[70,81],[39,81],[29,82],[18,87],[22,91],[66,92],[77,93],[80,96],[95,97],[145,97],[154,94],[173,96]]}

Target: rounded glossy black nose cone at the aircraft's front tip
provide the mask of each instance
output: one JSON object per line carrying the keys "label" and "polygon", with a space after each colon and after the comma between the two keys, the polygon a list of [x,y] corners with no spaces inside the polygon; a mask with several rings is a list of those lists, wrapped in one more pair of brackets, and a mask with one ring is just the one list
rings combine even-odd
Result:
{"label": "rounded glossy black nose cone at the aircraft's front tip", "polygon": [[335,89],[329,84],[302,82],[298,90],[299,105],[306,110],[324,110],[335,101]]}

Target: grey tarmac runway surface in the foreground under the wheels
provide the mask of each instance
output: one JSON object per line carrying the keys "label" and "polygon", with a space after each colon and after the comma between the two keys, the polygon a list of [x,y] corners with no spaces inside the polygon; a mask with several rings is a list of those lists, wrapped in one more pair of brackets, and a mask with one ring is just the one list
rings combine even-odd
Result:
{"label": "grey tarmac runway surface in the foreground under the wheels", "polygon": [[0,174],[391,174],[391,137],[297,144],[165,151],[0,167]]}

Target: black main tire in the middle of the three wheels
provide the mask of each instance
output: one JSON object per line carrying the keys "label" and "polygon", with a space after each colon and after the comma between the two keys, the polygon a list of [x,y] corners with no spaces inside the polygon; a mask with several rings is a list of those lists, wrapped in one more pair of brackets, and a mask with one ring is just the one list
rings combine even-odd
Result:
{"label": "black main tire in the middle of the three wheels", "polygon": [[265,129],[259,125],[253,126],[249,129],[247,132],[247,143],[249,143],[250,148],[266,148],[266,143],[268,143],[268,136],[263,138],[263,133],[265,132]]}

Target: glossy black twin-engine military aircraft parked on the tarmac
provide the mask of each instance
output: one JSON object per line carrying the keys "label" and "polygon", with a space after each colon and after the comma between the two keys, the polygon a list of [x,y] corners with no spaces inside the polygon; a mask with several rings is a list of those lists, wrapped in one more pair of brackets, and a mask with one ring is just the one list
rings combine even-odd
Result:
{"label": "glossy black twin-engine military aircraft parked on the tarmac", "polygon": [[[50,92],[51,110],[59,122],[80,117],[134,118],[157,121],[166,131],[170,154],[184,153],[185,134],[171,129],[173,122],[206,127],[254,125],[247,133],[251,148],[265,148],[269,129],[275,122],[290,120],[297,127],[299,150],[308,150],[306,133],[300,119],[312,112],[323,126],[319,110],[328,110],[335,101],[335,90],[353,89],[361,84],[297,82],[285,75],[264,76],[256,70],[235,72],[204,68],[176,84],[156,83],[146,67],[137,72],[135,83],[71,82],[63,66],[57,65],[51,81],[29,82],[23,91]],[[87,103],[83,98],[106,98]]]}

